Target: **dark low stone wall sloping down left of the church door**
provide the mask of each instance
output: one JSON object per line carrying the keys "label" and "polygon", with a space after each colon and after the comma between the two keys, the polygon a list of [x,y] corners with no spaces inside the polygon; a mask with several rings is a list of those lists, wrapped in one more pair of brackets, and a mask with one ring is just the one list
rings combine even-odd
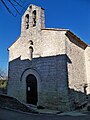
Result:
{"label": "dark low stone wall sloping down left of the church door", "polygon": [[18,101],[16,98],[3,94],[0,94],[0,107],[11,108],[23,112],[38,113],[37,111]]}

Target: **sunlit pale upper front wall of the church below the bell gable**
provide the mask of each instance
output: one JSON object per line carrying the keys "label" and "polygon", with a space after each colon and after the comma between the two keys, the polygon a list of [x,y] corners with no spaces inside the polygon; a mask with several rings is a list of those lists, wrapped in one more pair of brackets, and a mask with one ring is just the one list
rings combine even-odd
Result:
{"label": "sunlit pale upper front wall of the church below the bell gable", "polygon": [[[9,61],[21,57],[22,60],[30,57],[30,38],[33,41],[33,58],[55,56],[65,54],[66,31],[43,29],[41,32],[33,30],[31,36],[20,36],[19,39],[9,48]],[[14,51],[14,52],[13,52]]]}

